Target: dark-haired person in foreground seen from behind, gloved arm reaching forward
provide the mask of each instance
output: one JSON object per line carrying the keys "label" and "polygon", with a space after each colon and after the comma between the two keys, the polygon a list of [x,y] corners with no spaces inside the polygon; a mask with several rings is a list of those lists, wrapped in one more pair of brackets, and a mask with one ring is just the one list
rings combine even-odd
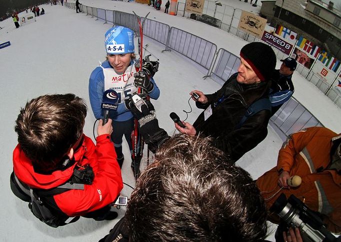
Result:
{"label": "dark-haired person in foreground seen from behind, gloved arm reaching forward", "polygon": [[240,241],[265,238],[266,208],[249,174],[209,138],[158,127],[153,107],[132,107],[154,162],[137,179],[125,217],[101,242]]}

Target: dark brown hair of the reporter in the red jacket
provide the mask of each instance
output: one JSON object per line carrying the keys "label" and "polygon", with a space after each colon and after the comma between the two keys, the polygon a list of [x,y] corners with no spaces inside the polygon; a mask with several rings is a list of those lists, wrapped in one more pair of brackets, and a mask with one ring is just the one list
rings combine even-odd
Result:
{"label": "dark brown hair of the reporter in the red jacket", "polygon": [[34,98],[16,119],[20,148],[40,170],[53,170],[82,134],[85,116],[86,105],[74,94]]}

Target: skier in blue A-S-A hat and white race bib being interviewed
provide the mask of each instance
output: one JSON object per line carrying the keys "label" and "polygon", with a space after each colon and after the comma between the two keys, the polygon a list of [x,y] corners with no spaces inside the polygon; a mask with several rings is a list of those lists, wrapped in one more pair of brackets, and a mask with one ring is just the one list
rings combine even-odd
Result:
{"label": "skier in blue A-S-A hat and white race bib being interviewed", "polygon": [[[96,119],[102,118],[101,103],[105,90],[117,92],[117,110],[111,111],[112,127],[115,130],[111,135],[114,143],[117,162],[122,167],[124,156],[122,153],[122,137],[128,143],[132,153],[131,132],[134,128],[134,118],[131,109],[130,97],[140,87],[152,99],[157,99],[160,91],[152,77],[151,70],[138,70],[134,54],[134,32],[127,27],[112,27],[105,33],[106,60],[97,66],[89,78],[89,99]],[[149,73],[147,73],[149,72]],[[151,74],[152,76],[152,74]],[[134,170],[134,161],[131,163]]]}

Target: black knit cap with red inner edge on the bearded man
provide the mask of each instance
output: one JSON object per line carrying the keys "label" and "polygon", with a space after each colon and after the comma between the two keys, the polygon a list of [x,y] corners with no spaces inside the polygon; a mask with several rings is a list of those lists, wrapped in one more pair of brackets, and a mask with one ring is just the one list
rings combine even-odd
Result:
{"label": "black knit cap with red inner edge on the bearded man", "polygon": [[267,44],[252,42],[240,50],[242,57],[261,81],[269,80],[276,67],[276,55]]}

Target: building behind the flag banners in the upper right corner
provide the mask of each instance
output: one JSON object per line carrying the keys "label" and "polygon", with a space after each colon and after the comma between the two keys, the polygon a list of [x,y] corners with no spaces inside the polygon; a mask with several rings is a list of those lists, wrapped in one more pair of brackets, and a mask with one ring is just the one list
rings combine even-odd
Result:
{"label": "building behind the flag banners in the upper right corner", "polygon": [[272,26],[283,25],[297,36],[341,59],[341,11],[321,0],[262,0],[260,15]]}

